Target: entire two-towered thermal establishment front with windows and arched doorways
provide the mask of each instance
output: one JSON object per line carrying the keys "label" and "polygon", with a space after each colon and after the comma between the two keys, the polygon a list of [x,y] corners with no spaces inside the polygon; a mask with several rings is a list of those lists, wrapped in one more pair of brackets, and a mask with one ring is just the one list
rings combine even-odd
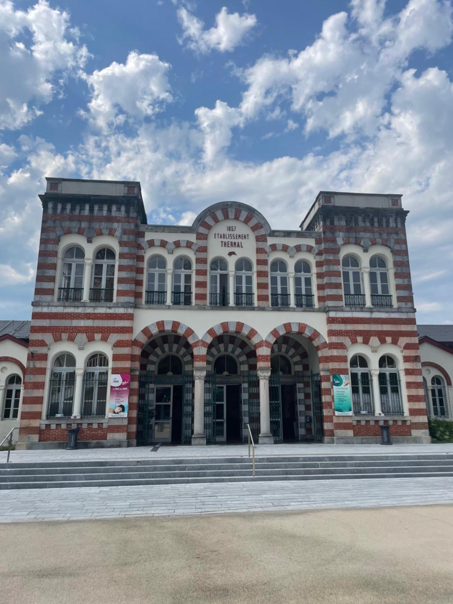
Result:
{"label": "entire two-towered thermal establishment front with windows and arched doorways", "polygon": [[48,178],[40,199],[19,448],[71,426],[85,446],[247,424],[260,443],[378,442],[382,424],[429,442],[400,195],[321,191],[292,231],[233,201],[149,225],[139,182]]}

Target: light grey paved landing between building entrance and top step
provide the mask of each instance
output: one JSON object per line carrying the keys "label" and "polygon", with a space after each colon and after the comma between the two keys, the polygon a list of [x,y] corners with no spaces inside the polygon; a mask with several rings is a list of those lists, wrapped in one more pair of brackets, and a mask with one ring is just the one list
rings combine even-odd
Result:
{"label": "light grey paved landing between building entrance and top step", "polygon": [[[208,445],[208,446],[161,446],[158,451],[153,447],[48,449],[47,451],[11,451],[10,461],[28,463],[39,461],[98,461],[98,460],[142,460],[142,459],[178,459],[204,457],[246,457],[245,445]],[[293,445],[257,445],[257,457],[282,455],[410,455],[430,453],[453,453],[453,444],[445,445],[323,445],[315,443],[295,443]],[[5,463],[6,451],[0,451],[0,463]]]}

